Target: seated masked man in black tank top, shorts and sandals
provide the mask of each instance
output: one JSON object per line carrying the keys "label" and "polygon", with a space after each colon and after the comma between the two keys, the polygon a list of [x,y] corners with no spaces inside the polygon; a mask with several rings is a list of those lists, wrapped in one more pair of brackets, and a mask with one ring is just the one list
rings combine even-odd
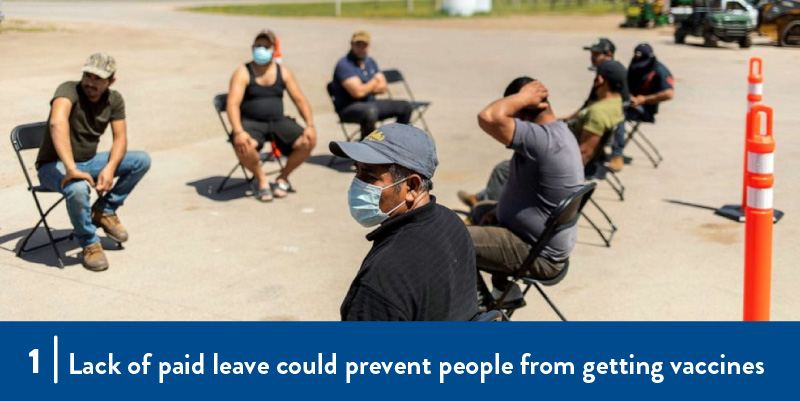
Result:
{"label": "seated masked man in black tank top, shorts and sandals", "polygon": [[[253,41],[253,61],[239,67],[231,77],[228,91],[228,119],[233,128],[233,145],[242,165],[256,177],[255,198],[269,202],[285,197],[291,190],[289,175],[311,156],[317,131],[311,106],[288,67],[276,63],[276,38],[261,31]],[[283,92],[289,93],[306,122],[303,128],[283,114]],[[275,140],[286,165],[270,184],[261,168],[259,152],[264,143]]]}

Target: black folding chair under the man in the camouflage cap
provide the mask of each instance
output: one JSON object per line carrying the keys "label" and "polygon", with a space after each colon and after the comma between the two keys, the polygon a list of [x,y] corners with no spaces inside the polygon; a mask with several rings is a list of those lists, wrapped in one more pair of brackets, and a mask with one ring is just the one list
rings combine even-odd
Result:
{"label": "black folding chair under the man in the camouflage cap", "polygon": [[[25,239],[22,240],[22,244],[20,245],[19,249],[17,249],[17,256],[22,256],[23,252],[31,252],[40,248],[44,248],[48,245],[53,247],[53,252],[56,254],[56,259],[58,259],[58,266],[60,268],[64,268],[64,261],[61,259],[61,253],[58,251],[58,247],[56,246],[57,242],[61,242],[67,239],[72,239],[72,234],[53,238],[53,233],[50,230],[50,225],[47,224],[47,216],[50,212],[55,209],[62,201],[64,201],[64,195],[58,194],[58,192],[51,191],[41,185],[34,186],[33,182],[31,181],[31,177],[28,174],[28,168],[25,166],[25,161],[22,159],[22,151],[28,149],[39,149],[41,146],[42,141],[44,140],[45,132],[46,132],[46,122],[38,122],[32,124],[23,124],[17,127],[14,127],[11,130],[11,145],[14,146],[14,152],[17,154],[17,159],[19,159],[19,165],[22,167],[22,172],[25,174],[25,180],[28,182],[28,191],[30,191],[31,195],[33,195],[33,201],[36,203],[36,210],[39,211],[39,221],[36,223],[35,226],[28,232],[28,235],[25,236]],[[40,193],[55,193],[59,195],[58,200],[52,206],[50,206],[47,211],[42,209],[42,204],[39,201],[39,196],[37,194]],[[26,248],[25,246],[28,244],[28,241],[33,236],[33,233],[39,229],[40,225],[44,225],[45,232],[47,233],[47,238],[49,239],[48,243],[44,243],[41,245],[37,245],[33,248]]]}

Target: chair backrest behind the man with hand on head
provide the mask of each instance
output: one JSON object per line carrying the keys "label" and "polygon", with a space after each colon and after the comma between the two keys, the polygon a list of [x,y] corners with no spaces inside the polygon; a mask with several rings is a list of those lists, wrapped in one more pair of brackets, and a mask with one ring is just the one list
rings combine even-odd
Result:
{"label": "chair backrest behind the man with hand on head", "polygon": [[553,209],[550,217],[548,217],[545,222],[544,231],[539,236],[538,241],[536,241],[536,245],[531,247],[531,251],[528,253],[528,257],[525,258],[525,262],[522,263],[519,272],[514,277],[515,279],[524,276],[528,269],[533,267],[536,258],[542,254],[542,250],[550,243],[550,240],[556,233],[577,224],[578,218],[581,216],[581,211],[586,205],[586,202],[589,201],[589,198],[592,197],[596,186],[597,184],[594,182],[585,184],[581,189],[562,200],[561,203]]}

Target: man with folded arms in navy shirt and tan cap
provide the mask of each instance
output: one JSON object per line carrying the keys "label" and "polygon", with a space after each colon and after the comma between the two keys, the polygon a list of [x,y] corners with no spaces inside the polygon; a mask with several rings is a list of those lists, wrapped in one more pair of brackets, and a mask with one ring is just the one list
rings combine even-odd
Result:
{"label": "man with folded arms in navy shirt and tan cap", "polygon": [[375,129],[378,121],[396,117],[408,124],[414,111],[405,100],[375,99],[386,92],[386,77],[378,63],[368,55],[369,32],[358,30],[350,39],[350,52],[336,63],[333,71],[334,108],[343,122],[361,125],[361,138]]}

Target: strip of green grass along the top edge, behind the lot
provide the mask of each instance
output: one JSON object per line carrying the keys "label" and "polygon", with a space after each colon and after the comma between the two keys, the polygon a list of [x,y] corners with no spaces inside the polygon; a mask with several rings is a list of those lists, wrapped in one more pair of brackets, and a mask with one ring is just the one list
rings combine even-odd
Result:
{"label": "strip of green grass along the top edge, behind the lot", "polygon": [[[583,2],[581,2],[583,3]],[[611,2],[579,5],[578,1],[566,2],[558,0],[551,6],[549,0],[495,0],[492,12],[479,16],[508,16],[530,14],[608,14],[619,12],[622,2],[615,6]],[[435,10],[434,0],[414,0],[414,11],[408,12],[407,2],[400,1],[367,1],[342,2],[342,17],[345,18],[444,18],[447,15]],[[327,3],[293,3],[293,4],[241,4],[226,6],[187,7],[183,10],[272,17],[333,17],[335,5]]]}

